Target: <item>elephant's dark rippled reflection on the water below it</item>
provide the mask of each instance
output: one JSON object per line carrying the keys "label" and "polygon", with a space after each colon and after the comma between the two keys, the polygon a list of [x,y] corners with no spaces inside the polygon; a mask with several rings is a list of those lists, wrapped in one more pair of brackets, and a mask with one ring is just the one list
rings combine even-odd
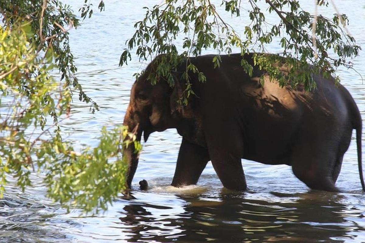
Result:
{"label": "elephant's dark rippled reflection on the water below it", "polygon": [[[131,200],[120,220],[130,226],[129,242],[361,242],[356,232],[364,231],[365,222],[352,220],[361,213],[346,214],[349,208],[341,203],[346,196],[327,192],[271,196],[277,200],[223,193],[211,199],[178,196],[186,201],[180,206],[182,213],[171,213],[172,204],[164,206],[169,209],[166,215],[161,206]],[[160,213],[154,214],[155,209]]]}

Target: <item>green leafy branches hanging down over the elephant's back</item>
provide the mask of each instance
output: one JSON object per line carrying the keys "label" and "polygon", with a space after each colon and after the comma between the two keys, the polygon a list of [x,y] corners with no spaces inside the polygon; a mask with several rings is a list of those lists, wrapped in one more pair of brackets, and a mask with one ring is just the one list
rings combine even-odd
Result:
{"label": "green leafy branches hanging down over the elephant's back", "polygon": [[[245,26],[244,33],[238,33],[226,23],[211,0],[166,0],[152,8],[146,7],[145,18],[135,24],[137,30],[126,42],[127,48],[120,57],[120,65],[127,64],[131,59],[131,50],[136,51],[140,60],[165,54],[154,61],[155,70],[149,74],[149,80],[156,83],[162,78],[173,86],[170,70],[186,62],[186,72],[183,74],[187,84],[185,104],[189,95],[193,94],[187,72],[199,72],[189,57],[198,56],[208,48],[214,48],[217,52],[212,59],[214,67],[220,66],[221,53],[230,54],[235,48],[240,50],[241,55],[255,52],[255,65],[266,70],[271,80],[277,79],[281,86],[289,84],[295,87],[301,83],[307,90],[315,88],[314,73],[322,72],[324,77],[334,75],[335,81],[339,82],[339,77],[335,75],[336,68],[352,68],[347,59],[357,56],[360,46],[346,32],[346,25],[349,24],[346,15],[336,13],[332,18],[314,16],[301,8],[298,0],[262,0],[267,8],[264,12],[258,7],[258,1],[248,0],[250,9],[244,9],[244,12],[239,0],[221,1],[225,11],[233,17],[251,20]],[[328,6],[328,1],[319,0],[318,5]],[[279,17],[278,23],[266,21],[265,15],[271,12]],[[184,40],[182,46],[175,44],[178,36]],[[274,38],[280,38],[282,51],[268,55],[266,46]],[[241,65],[252,75],[253,67],[246,60],[242,59]],[[287,73],[280,70],[283,65],[289,67]],[[139,75],[136,74],[137,78]],[[199,80],[205,81],[201,72]]]}

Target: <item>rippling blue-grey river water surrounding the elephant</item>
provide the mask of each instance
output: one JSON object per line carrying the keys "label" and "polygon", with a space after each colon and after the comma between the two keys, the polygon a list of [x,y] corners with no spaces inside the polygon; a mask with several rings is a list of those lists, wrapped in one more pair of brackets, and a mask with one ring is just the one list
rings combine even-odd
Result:
{"label": "rippling blue-grey river water surrounding the elephant", "polygon": [[[68,1],[75,9],[82,2]],[[301,1],[309,11],[314,11],[312,2]],[[88,105],[75,98],[72,116],[63,127],[76,146],[95,146],[102,126],[122,124],[132,74],[145,64],[135,58],[128,66],[118,67],[119,57],[125,40],[134,33],[134,22],[145,13],[142,7],[158,3],[108,0],[104,12],[95,11],[91,19],[71,31],[80,83],[101,107],[91,114]],[[336,3],[349,16],[349,31],[365,47],[365,2]],[[334,13],[331,7],[320,11],[329,16]],[[247,23],[244,9],[241,15],[229,20],[238,31]],[[229,19],[230,15],[223,17]],[[273,43],[269,50],[278,52],[280,48]],[[364,56],[362,51],[353,60],[363,76]],[[361,78],[352,70],[341,69],[338,74],[365,117]],[[337,181],[345,192],[328,193],[309,190],[289,166],[247,160],[242,160],[249,187],[246,192],[224,189],[210,162],[196,186],[170,187],[181,137],[174,129],[153,133],[143,144],[132,183],[133,199],[117,198],[99,215],[81,215],[80,209],[66,213],[51,203],[45,197],[41,175],[32,175],[34,187],[24,193],[10,183],[0,200],[0,242],[365,242],[365,195],[358,179],[354,135]],[[362,138],[365,144],[364,134]],[[146,192],[138,189],[142,179],[150,185]]]}

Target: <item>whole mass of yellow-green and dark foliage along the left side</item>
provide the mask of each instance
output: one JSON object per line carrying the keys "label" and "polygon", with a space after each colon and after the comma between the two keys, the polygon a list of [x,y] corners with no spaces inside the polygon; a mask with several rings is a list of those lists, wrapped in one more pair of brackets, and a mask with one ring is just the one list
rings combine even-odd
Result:
{"label": "whole mass of yellow-green and dark foliage along the left side", "polygon": [[[91,4],[84,7],[81,15],[90,17]],[[75,77],[64,27],[77,27],[79,20],[57,0],[1,1],[0,12],[0,197],[8,176],[24,191],[37,170],[54,201],[85,211],[106,209],[126,189],[123,148],[141,146],[125,126],[103,128],[100,144],[80,152],[61,138],[59,119],[69,117],[74,89],[91,102],[92,112],[98,109]],[[58,80],[52,75],[57,69]]]}

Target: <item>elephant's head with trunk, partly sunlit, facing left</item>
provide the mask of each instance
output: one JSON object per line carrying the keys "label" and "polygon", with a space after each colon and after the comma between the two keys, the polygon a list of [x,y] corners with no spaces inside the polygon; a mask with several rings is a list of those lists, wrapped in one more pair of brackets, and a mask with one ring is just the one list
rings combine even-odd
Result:
{"label": "elephant's head with trunk, partly sunlit, facing left", "polygon": [[[151,85],[147,80],[148,70],[131,90],[130,102],[124,117],[123,125],[128,126],[129,132],[135,132],[137,141],[141,141],[142,132],[145,142],[152,132],[161,132],[168,128],[176,127],[177,99],[181,95],[179,84],[170,87],[167,82],[161,80]],[[124,150],[124,156],[128,161],[127,186],[130,188],[134,173],[138,165],[138,154],[134,153],[134,146],[128,146]]]}

